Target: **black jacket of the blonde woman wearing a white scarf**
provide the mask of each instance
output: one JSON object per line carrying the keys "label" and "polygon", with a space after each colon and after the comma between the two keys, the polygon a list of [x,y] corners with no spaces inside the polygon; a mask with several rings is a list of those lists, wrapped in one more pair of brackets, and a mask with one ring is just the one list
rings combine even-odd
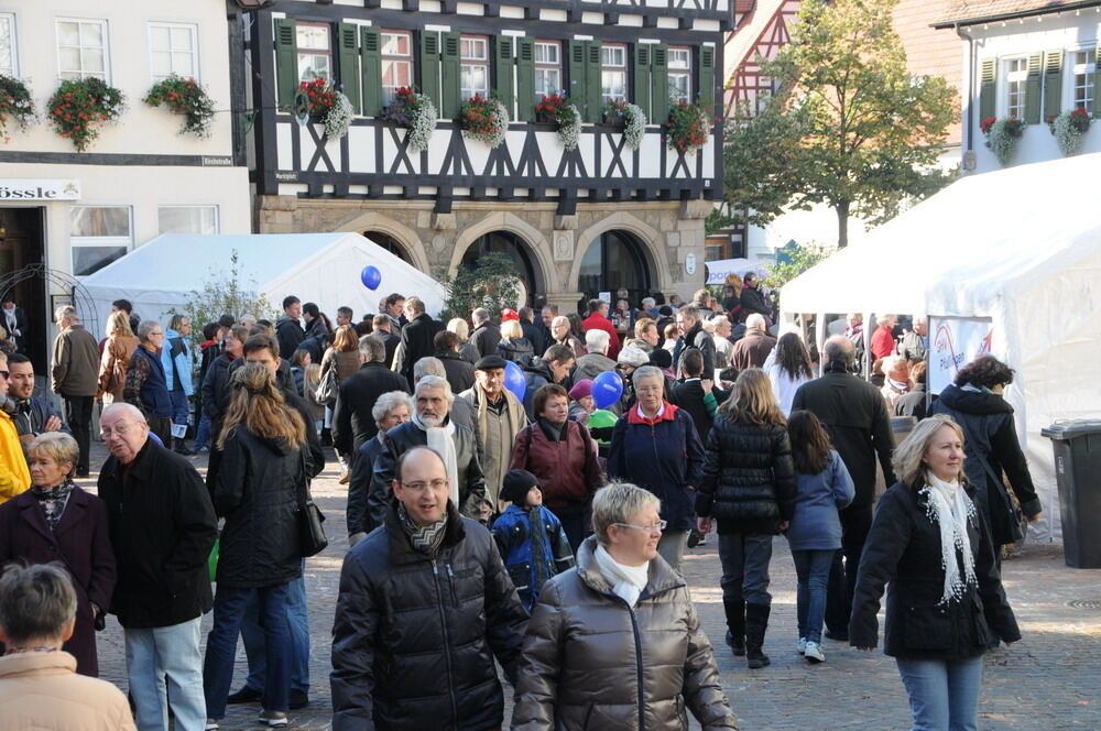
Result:
{"label": "black jacket of the blonde woman wearing a white scarf", "polygon": [[[967,489],[973,500],[974,492]],[[979,511],[974,521],[968,521],[978,586],[964,589],[962,600],[940,603],[945,587],[940,527],[929,519],[926,504],[925,497],[901,483],[880,498],[857,574],[850,643],[854,647],[876,645],[875,615],[884,585],[890,586],[883,651],[892,657],[966,659],[981,655],[995,644],[995,637],[1020,640]]]}

